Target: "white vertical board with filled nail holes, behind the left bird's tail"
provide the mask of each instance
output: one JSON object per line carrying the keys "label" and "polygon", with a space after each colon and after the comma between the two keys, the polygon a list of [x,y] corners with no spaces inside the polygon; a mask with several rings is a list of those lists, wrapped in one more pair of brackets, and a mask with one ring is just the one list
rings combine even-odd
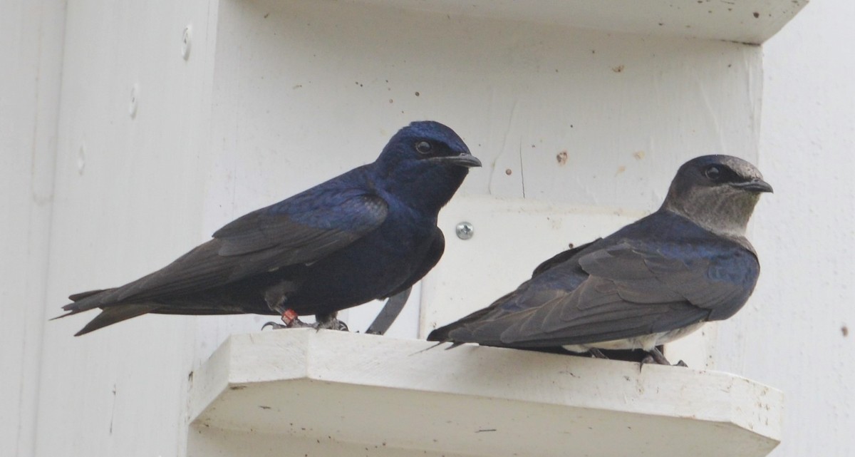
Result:
{"label": "white vertical board with filled nail holes, behind the left bird's tail", "polygon": [[[135,279],[204,239],[210,6],[68,3],[45,316],[68,294]],[[195,319],[137,318],[74,338],[95,313],[44,323],[29,455],[183,454]]]}

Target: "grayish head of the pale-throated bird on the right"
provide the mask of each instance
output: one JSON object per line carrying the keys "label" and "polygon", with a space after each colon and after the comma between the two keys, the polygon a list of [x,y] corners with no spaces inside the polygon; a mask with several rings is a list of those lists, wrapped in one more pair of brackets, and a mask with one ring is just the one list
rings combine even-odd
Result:
{"label": "grayish head of the pale-throated bird on the right", "polygon": [[732,156],[702,156],[683,163],[662,205],[716,234],[744,236],[760,194],[772,192],[751,163]]}

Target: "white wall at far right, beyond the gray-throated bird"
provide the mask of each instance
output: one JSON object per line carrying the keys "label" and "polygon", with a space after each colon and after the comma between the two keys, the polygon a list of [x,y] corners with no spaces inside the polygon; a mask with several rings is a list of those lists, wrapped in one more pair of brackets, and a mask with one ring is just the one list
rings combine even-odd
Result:
{"label": "white wall at far right, beyond the gray-throated bird", "polygon": [[[719,326],[719,369],[786,393],[775,457],[855,448],[855,3],[812,2],[764,45],[758,288]],[[841,329],[846,327],[848,335]]]}

